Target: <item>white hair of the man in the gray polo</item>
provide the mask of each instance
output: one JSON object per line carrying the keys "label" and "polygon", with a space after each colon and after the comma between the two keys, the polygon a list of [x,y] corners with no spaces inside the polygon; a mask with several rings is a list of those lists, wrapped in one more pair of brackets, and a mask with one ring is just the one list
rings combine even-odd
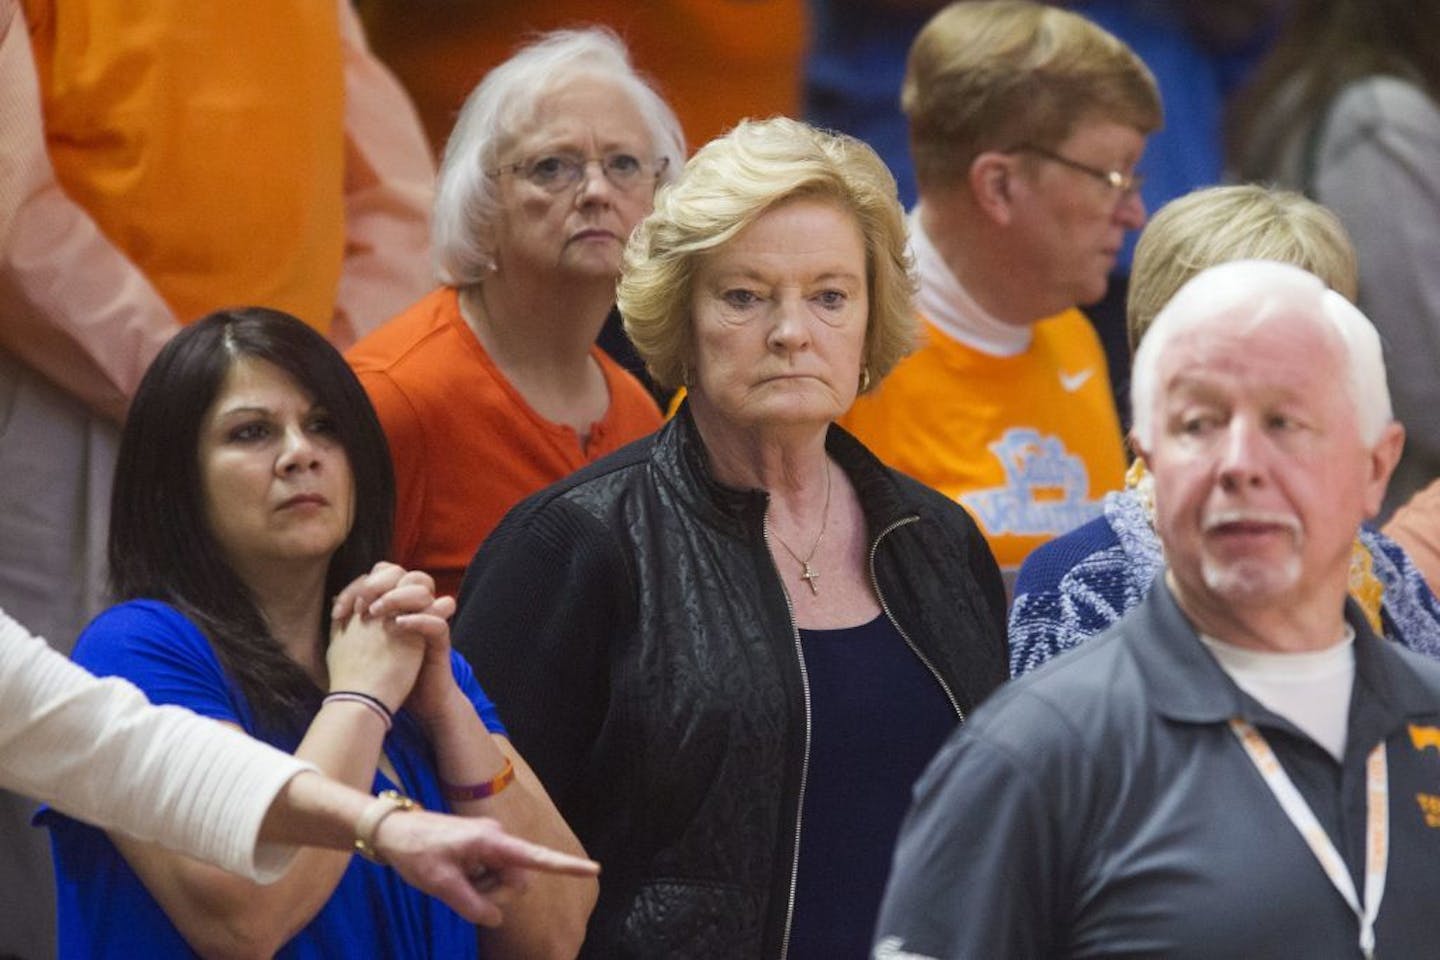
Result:
{"label": "white hair of the man in the gray polo", "polygon": [[1339,338],[1345,356],[1345,390],[1355,404],[1361,442],[1374,445],[1391,422],[1390,387],[1380,332],[1354,304],[1318,276],[1289,263],[1231,261],[1192,276],[1155,317],[1130,371],[1135,439],[1153,449],[1159,361],[1179,334],[1208,325],[1247,324],[1274,317],[1309,320],[1319,335]]}

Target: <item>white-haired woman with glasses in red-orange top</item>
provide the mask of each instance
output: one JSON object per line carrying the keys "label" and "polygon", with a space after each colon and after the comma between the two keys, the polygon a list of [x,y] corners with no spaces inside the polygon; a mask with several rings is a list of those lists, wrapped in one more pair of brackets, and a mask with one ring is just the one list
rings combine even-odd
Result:
{"label": "white-haired woman with glasses in red-orange top", "polygon": [[348,354],[395,459],[393,558],[441,593],[523,497],[660,426],[595,340],[683,160],[674,112],[599,27],[544,35],[465,102],[435,201],[442,286]]}

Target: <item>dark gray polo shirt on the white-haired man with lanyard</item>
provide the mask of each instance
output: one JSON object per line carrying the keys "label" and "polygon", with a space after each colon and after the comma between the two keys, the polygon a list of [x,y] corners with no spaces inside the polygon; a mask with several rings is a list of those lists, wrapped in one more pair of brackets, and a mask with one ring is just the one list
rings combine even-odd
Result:
{"label": "dark gray polo shirt on the white-haired man with lanyard", "polygon": [[1344,763],[1234,685],[1164,581],[1001,688],[916,786],[876,957],[1359,957],[1355,914],[1231,734],[1236,715],[1269,740],[1361,891],[1365,756],[1385,740],[1375,956],[1440,957],[1440,664],[1348,619]]}

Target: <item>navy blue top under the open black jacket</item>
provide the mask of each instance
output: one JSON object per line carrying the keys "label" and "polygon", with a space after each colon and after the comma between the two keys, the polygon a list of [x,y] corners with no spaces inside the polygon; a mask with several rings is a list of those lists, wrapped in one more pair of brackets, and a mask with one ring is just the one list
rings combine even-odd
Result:
{"label": "navy blue top under the open black jacket", "polygon": [[789,956],[867,957],[910,784],[959,717],[884,613],[801,630],[801,649],[811,754]]}

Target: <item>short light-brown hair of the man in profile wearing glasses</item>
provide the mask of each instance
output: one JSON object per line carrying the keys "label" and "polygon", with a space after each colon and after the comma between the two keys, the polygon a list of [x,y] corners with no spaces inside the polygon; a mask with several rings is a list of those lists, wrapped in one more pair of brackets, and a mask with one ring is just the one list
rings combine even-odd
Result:
{"label": "short light-brown hair of the man in profile wearing glasses", "polygon": [[982,153],[1057,148],[1081,124],[1153,132],[1155,76],[1135,52],[1077,13],[1027,0],[963,0],[920,29],[900,107],[922,187],[960,183]]}

